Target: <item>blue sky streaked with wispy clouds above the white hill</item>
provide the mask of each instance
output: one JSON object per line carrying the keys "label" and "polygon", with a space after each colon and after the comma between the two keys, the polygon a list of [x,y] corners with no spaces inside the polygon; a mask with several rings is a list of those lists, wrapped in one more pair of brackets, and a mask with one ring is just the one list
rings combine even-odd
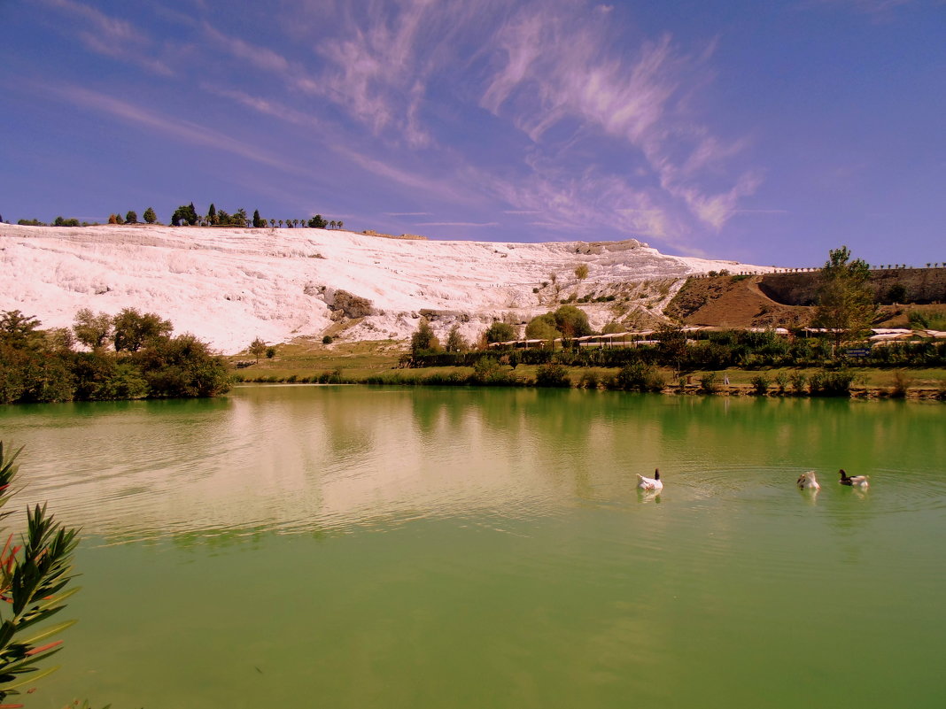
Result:
{"label": "blue sky streaked with wispy clouds above the white hill", "polygon": [[0,0],[0,215],[946,259],[944,0]]}

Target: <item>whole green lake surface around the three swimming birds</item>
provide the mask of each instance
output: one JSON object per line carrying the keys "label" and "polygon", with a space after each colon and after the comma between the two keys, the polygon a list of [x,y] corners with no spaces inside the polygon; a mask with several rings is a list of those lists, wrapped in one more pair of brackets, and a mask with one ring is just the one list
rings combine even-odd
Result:
{"label": "whole green lake surface around the three swimming birds", "polygon": [[0,407],[19,507],[83,527],[26,706],[946,706],[944,424],[557,390]]}

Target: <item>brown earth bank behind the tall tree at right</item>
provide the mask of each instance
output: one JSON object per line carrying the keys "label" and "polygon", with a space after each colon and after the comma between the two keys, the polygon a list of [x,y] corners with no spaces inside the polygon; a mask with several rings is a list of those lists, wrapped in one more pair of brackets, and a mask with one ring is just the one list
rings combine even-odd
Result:
{"label": "brown earth bank behind the tall tree at right", "polygon": [[[946,268],[871,271],[870,286],[878,325],[906,326],[911,310],[946,312]],[[815,315],[817,287],[814,272],[691,278],[664,312],[686,325],[800,327]]]}

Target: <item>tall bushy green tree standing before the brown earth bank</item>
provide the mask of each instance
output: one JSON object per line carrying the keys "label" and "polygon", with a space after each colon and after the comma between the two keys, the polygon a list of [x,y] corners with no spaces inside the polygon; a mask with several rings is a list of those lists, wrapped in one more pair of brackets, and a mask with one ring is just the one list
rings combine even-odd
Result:
{"label": "tall bushy green tree standing before the brown earth bank", "polygon": [[877,316],[877,303],[867,285],[870,267],[859,258],[851,260],[846,246],[828,252],[821,267],[815,325],[833,330],[834,346],[860,337]]}

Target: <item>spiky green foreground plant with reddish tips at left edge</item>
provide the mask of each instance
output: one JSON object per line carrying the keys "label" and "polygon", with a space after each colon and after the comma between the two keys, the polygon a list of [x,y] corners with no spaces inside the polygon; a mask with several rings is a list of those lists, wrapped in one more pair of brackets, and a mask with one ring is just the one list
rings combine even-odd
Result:
{"label": "spiky green foreground plant with reddish tips at left edge", "polygon": [[[8,455],[0,441],[0,519],[12,512],[3,508],[13,491],[10,485],[17,474],[15,464],[20,451]],[[38,629],[65,608],[65,599],[79,591],[64,590],[72,579],[72,554],[79,544],[79,530],[62,527],[45,505],[26,510],[26,534],[20,545],[13,545],[10,534],[0,552],[0,702],[20,694],[20,688],[55,671],[39,664],[61,649],[62,641],[49,642],[76,621],[67,620]],[[0,704],[0,709],[22,704]]]}

